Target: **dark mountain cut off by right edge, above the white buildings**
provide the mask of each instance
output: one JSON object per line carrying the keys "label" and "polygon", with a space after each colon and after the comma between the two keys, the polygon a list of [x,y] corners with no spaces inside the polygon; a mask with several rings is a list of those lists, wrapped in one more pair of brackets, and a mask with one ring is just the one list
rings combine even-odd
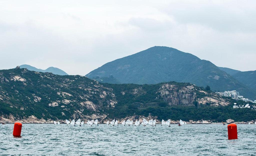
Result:
{"label": "dark mountain cut off by right edge, above the white buildings", "polygon": [[238,81],[243,82],[246,86],[251,89],[256,89],[256,70],[255,71],[240,71],[232,77],[236,78]]}

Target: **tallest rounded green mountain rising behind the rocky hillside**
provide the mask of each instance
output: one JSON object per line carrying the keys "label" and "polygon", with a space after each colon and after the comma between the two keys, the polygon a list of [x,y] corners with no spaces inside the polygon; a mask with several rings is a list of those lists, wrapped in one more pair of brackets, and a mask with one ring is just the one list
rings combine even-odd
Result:
{"label": "tallest rounded green mountain rising behind the rocky hillside", "polygon": [[213,91],[237,90],[248,98],[256,99],[256,92],[210,61],[164,46],[154,46],[136,54],[116,59],[86,75],[108,83],[156,84],[176,81],[207,85]]}

